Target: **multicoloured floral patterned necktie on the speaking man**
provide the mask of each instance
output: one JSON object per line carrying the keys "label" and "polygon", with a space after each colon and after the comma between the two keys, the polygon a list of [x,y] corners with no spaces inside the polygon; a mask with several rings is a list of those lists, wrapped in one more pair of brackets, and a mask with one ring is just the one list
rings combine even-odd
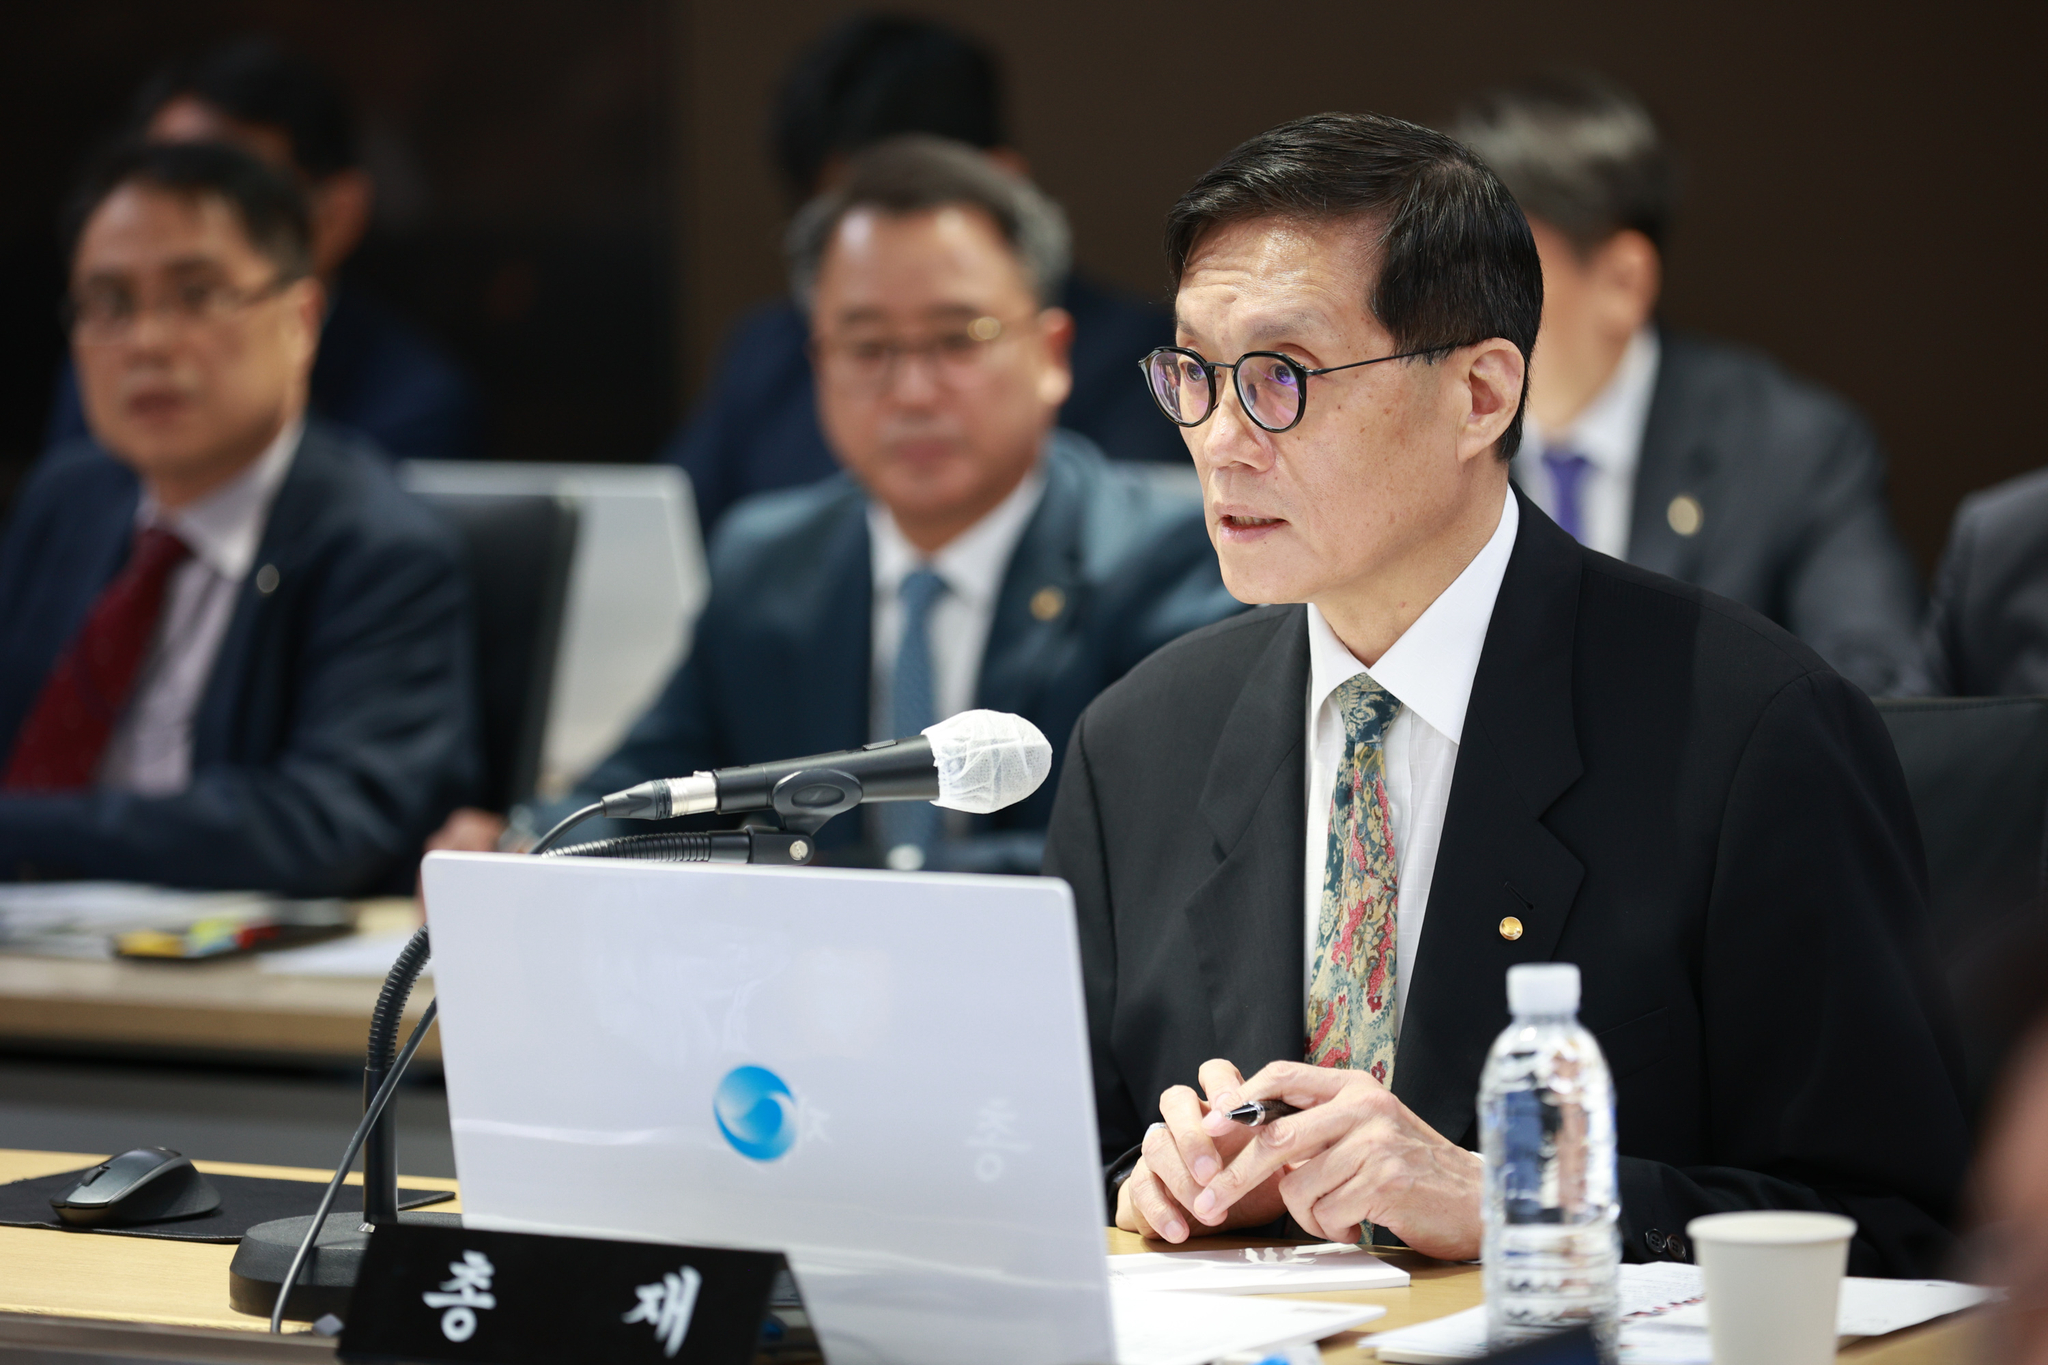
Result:
{"label": "multicoloured floral patterned necktie on the speaking man", "polygon": [[1358,673],[1331,700],[1343,757],[1329,794],[1323,907],[1309,972],[1309,1062],[1395,1070],[1395,835],[1386,810],[1386,726],[1401,702]]}

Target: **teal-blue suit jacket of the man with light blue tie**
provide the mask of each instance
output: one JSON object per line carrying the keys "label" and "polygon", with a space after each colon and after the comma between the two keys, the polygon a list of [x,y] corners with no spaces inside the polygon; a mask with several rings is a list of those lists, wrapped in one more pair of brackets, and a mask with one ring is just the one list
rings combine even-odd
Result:
{"label": "teal-blue suit jacket of the man with light blue tie", "polygon": [[[829,753],[868,743],[872,577],[868,497],[846,475],[764,493],[721,522],[711,600],[688,661],[582,800],[647,778]],[[1049,591],[1051,589],[1051,591]],[[1036,604],[1036,610],[1034,610]],[[1051,610],[1047,610],[1051,608]],[[975,704],[1032,720],[1065,743],[1081,708],[1159,645],[1243,606],[1223,589],[1198,497],[1112,465],[1055,432],[1044,495],[1012,551],[989,624]],[[1053,780],[973,819],[952,866],[1036,870]],[[836,819],[819,847],[848,855],[860,819]],[[641,833],[612,823],[608,833]],[[578,829],[578,837],[596,837]]]}

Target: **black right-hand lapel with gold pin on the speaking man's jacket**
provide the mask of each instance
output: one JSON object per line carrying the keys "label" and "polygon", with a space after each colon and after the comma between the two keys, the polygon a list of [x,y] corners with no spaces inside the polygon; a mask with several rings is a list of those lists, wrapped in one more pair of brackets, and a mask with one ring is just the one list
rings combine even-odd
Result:
{"label": "black right-hand lapel with gold pin on the speaking man's jacket", "polygon": [[1550,960],[1585,872],[1542,825],[1583,772],[1571,692],[1581,555],[1524,499],[1473,677],[1395,1056],[1395,1093],[1452,1142],[1468,1138],[1479,1070],[1507,1023],[1507,968]]}

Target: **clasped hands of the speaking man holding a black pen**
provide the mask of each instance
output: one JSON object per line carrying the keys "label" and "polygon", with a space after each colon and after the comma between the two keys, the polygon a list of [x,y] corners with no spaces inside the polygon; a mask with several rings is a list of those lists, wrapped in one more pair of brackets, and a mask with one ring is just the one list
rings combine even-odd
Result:
{"label": "clasped hands of the speaking man holding a black pen", "polygon": [[[1145,1136],[1145,1158],[1116,1201],[1120,1228],[1182,1242],[1190,1228],[1223,1232],[1286,1212],[1331,1242],[1356,1242],[1374,1222],[1425,1254],[1479,1257],[1483,1160],[1370,1074],[1272,1062],[1243,1081],[1212,1060],[1200,1081],[1206,1103],[1188,1087],[1161,1095],[1161,1124]],[[1233,1121],[1229,1111],[1247,1101],[1282,1101],[1296,1113]]]}

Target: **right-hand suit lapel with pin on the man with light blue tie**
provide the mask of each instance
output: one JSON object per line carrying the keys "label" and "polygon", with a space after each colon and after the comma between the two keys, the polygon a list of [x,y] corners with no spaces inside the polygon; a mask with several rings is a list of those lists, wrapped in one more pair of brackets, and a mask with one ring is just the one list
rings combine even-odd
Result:
{"label": "right-hand suit lapel with pin on the man with light blue tie", "polygon": [[[1081,473],[1055,440],[1044,458],[1044,493],[1024,524],[995,598],[989,643],[975,684],[977,704],[1034,714],[1047,677],[1057,673],[1073,622],[1083,620],[1081,526],[1087,518]],[[1063,737],[1053,737],[1059,743]]]}

